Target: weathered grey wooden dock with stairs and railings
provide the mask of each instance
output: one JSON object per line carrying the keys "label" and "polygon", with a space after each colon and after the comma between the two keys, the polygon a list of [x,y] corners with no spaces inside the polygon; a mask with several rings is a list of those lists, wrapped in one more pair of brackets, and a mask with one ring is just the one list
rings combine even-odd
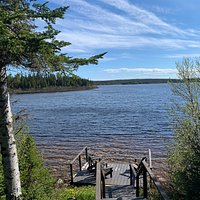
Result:
{"label": "weathered grey wooden dock with stairs and railings", "polygon": [[[84,152],[86,162],[82,165],[81,156]],[[76,160],[79,162],[79,170],[74,174],[73,164]],[[146,162],[146,158],[143,158],[139,165],[134,163],[105,163],[99,159],[93,160],[88,155],[88,149],[84,148],[69,165],[71,184],[96,185],[96,200],[148,199],[147,182],[149,180],[155,185],[161,198],[169,200],[154,176],[150,168],[151,164]],[[143,197],[139,197],[141,188]]]}

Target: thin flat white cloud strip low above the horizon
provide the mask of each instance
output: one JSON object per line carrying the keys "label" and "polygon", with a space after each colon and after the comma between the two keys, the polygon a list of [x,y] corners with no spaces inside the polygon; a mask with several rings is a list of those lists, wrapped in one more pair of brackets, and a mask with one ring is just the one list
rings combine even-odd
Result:
{"label": "thin flat white cloud strip low above the horizon", "polygon": [[154,74],[175,74],[177,73],[176,69],[172,69],[172,68],[110,68],[110,69],[105,69],[103,70],[104,72],[108,72],[111,74],[115,74],[115,73],[124,73],[124,72],[139,72],[139,73],[154,73]]}

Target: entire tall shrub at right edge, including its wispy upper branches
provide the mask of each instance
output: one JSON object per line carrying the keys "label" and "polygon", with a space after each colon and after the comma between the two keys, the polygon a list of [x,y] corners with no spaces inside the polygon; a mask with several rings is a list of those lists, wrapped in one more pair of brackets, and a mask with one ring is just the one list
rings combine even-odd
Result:
{"label": "entire tall shrub at right edge, including its wispy upper branches", "polygon": [[173,108],[175,144],[169,151],[170,177],[180,199],[181,196],[183,199],[199,199],[199,61],[184,59],[177,64],[177,69],[181,82],[172,86],[179,100]]}

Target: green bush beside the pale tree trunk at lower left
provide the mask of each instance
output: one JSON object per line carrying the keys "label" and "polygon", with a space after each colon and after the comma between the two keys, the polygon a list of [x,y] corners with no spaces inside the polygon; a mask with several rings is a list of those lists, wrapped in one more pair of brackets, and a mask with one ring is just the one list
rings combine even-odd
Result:
{"label": "green bush beside the pale tree trunk at lower left", "polygon": [[[43,159],[38,152],[33,138],[27,133],[19,132],[16,136],[18,145],[19,168],[24,200],[51,199],[54,192],[54,179],[45,168]],[[0,165],[0,195],[3,191],[3,170]]]}

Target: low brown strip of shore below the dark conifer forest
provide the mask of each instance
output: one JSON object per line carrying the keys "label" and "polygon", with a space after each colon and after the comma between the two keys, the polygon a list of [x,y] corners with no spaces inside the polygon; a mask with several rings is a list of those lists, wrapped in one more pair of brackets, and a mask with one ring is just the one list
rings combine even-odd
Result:
{"label": "low brown strip of shore below the dark conifer forest", "polygon": [[11,94],[33,94],[33,93],[54,93],[54,92],[70,92],[70,91],[82,91],[92,90],[97,86],[83,86],[83,87],[48,87],[48,88],[37,88],[37,89],[10,89]]}

